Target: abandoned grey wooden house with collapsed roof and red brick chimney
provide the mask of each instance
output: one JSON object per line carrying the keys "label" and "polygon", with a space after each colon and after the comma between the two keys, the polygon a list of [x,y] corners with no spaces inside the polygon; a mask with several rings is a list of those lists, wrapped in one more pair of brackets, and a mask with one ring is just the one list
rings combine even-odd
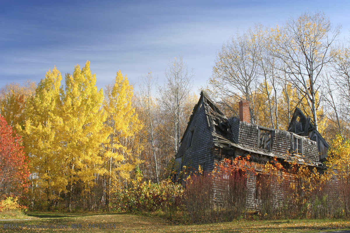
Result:
{"label": "abandoned grey wooden house with collapsed roof and red brick chimney", "polygon": [[[329,145],[315,129],[310,117],[296,109],[288,131],[276,130],[250,123],[249,102],[239,102],[239,118],[226,117],[203,91],[193,109],[186,131],[175,156],[175,169],[183,166],[211,172],[225,158],[250,155],[259,171],[274,158],[282,165],[288,162],[307,164],[323,170],[322,161]],[[256,209],[254,179],[247,181],[250,193],[247,207]]]}

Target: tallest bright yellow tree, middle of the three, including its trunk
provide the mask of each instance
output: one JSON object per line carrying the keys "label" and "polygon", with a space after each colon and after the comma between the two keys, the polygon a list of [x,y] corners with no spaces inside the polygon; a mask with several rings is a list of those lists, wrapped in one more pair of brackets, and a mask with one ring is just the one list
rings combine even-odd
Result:
{"label": "tallest bright yellow tree, middle of the three, including its trunk", "polygon": [[75,66],[73,75],[66,74],[65,92],[62,93],[62,126],[59,129],[61,162],[65,169],[62,176],[67,182],[68,211],[71,210],[75,184],[82,183],[84,191],[93,185],[95,174],[101,169],[102,143],[107,139],[103,122],[103,90],[98,91],[96,74],[91,74],[90,61],[80,70]]}

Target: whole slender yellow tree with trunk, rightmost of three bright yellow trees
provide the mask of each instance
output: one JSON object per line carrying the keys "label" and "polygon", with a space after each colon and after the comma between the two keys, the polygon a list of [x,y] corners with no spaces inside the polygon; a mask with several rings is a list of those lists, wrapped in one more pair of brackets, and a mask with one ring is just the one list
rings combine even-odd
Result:
{"label": "whole slender yellow tree with trunk, rightmost of three bright yellow trees", "polygon": [[[130,173],[140,163],[137,153],[132,146],[137,146],[133,140],[135,132],[139,131],[135,108],[132,107],[133,87],[127,77],[123,77],[120,70],[116,75],[113,86],[107,86],[104,110],[107,114],[105,122],[109,133],[104,161],[106,168],[106,199],[108,208],[112,186],[120,189],[123,181],[130,179]],[[136,145],[131,145],[131,142]]]}

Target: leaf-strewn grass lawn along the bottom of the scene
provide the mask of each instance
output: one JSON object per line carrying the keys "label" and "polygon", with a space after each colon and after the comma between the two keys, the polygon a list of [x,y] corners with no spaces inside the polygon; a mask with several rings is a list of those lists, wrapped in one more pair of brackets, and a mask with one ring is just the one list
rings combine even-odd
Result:
{"label": "leaf-strewn grass lawn along the bottom of the scene", "polygon": [[[349,230],[350,220],[239,220],[230,223],[174,225],[159,217],[121,213],[56,213],[28,212],[29,219],[0,221],[0,232],[320,232]],[[23,229],[3,229],[10,224],[23,224]],[[72,229],[76,224],[77,229]],[[82,228],[78,229],[78,224]],[[90,224],[90,225],[89,225]],[[96,228],[92,228],[92,224]],[[103,225],[105,224],[105,225]],[[112,229],[100,227],[112,224]],[[67,225],[66,229],[28,229],[27,225]],[[15,227],[16,225],[13,225]],[[75,225],[74,225],[75,226]],[[91,227],[89,229],[89,226]],[[110,226],[110,225],[108,225]]]}

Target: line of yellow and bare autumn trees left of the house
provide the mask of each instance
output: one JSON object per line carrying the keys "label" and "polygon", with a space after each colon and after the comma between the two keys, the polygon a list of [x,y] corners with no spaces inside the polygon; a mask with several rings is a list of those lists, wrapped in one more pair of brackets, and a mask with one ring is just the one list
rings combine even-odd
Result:
{"label": "line of yellow and bare autumn trees left of the house", "polygon": [[[38,85],[27,81],[3,87],[1,120],[24,150],[22,165],[28,163],[27,176],[21,177],[26,180],[21,186],[27,196],[23,203],[48,210],[110,209],[113,198],[135,179],[136,170],[156,183],[170,177],[184,124],[197,99],[188,95],[191,78],[180,72],[187,72],[182,56],[169,60],[168,79],[158,89],[158,98],[152,96],[151,72],[142,76],[144,88],[135,95],[120,71],[112,85],[98,90],[89,61],[67,73],[64,86],[54,67]],[[184,80],[187,86],[182,86]],[[18,172],[21,169],[18,165]],[[5,174],[5,167],[2,170]],[[7,178],[16,186],[16,179]],[[2,194],[5,198],[19,192],[2,185]]]}

